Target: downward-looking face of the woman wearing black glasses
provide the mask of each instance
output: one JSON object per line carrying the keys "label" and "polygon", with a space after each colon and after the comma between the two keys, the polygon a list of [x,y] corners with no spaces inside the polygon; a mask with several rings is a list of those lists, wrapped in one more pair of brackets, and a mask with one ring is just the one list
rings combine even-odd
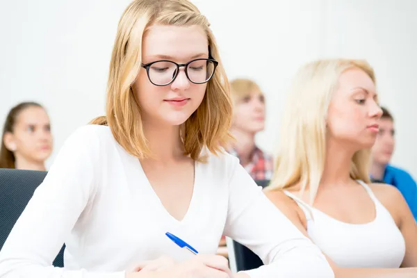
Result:
{"label": "downward-looking face of the woman wearing black glasses", "polygon": [[[199,26],[179,27],[155,25],[142,42],[142,64],[169,60],[186,64],[197,58],[208,58],[208,40]],[[204,65],[193,66],[194,72]],[[149,68],[152,76],[172,77],[172,63],[162,62]],[[175,66],[174,66],[175,67]],[[177,78],[169,85],[154,85],[144,68],[133,85],[142,113],[142,120],[154,124],[179,125],[186,122],[202,103],[207,83],[190,82],[184,67],[179,68]],[[172,70],[172,72],[171,72]],[[167,74],[170,76],[167,76]],[[190,75],[190,70],[188,70]],[[197,78],[197,77],[196,77]],[[154,79],[153,82],[159,81]]]}

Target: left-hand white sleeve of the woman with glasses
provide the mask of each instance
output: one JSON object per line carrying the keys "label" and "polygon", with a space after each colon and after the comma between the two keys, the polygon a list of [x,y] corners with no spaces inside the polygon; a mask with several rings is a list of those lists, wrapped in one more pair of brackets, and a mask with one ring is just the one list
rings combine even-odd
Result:
{"label": "left-hand white sleeve of the woman with glasses", "polygon": [[66,270],[52,265],[95,194],[99,140],[83,126],[65,141],[0,252],[1,278],[124,278],[124,272]]}

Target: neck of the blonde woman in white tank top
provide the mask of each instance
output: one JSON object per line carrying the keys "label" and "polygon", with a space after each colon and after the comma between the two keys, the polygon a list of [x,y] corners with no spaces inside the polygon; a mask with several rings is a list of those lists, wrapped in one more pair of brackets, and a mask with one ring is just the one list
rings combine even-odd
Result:
{"label": "neck of the blonde woman in white tank top", "polygon": [[354,152],[354,150],[338,144],[338,142],[328,140],[325,168],[320,180],[320,188],[343,186],[350,182],[350,167]]}

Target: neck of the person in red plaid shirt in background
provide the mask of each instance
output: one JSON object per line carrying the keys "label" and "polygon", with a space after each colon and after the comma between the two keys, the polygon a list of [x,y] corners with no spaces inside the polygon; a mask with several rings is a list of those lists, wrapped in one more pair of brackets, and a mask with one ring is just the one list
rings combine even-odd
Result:
{"label": "neck of the person in red plaid shirt in background", "polygon": [[236,138],[234,148],[238,153],[240,163],[250,163],[255,149],[255,133],[249,133],[240,129],[231,129],[231,135]]}

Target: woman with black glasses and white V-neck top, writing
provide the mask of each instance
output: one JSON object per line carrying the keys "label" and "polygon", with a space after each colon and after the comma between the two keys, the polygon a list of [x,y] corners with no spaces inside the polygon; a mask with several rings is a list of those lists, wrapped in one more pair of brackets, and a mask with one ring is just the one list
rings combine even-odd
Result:
{"label": "woman with black glasses and white V-neck top, writing", "polygon": [[[0,277],[334,277],[220,149],[231,113],[206,17],[186,0],[133,1],[117,29],[106,117],[60,149],[0,252]],[[232,274],[214,255],[223,233],[266,265]],[[64,242],[65,268],[54,268]]]}

